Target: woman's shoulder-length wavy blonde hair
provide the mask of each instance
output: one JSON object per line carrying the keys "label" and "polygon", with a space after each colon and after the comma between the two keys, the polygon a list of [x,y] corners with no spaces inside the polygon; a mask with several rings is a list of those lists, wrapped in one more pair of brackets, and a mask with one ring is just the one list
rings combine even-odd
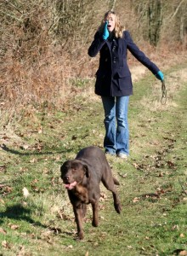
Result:
{"label": "woman's shoulder-length wavy blonde hair", "polygon": [[[105,13],[104,15],[104,20],[106,20],[108,15],[115,15],[115,20],[116,20],[116,24],[115,24],[115,28],[114,28],[114,34],[116,38],[122,38],[122,32],[125,30],[125,27],[122,25],[120,18],[118,15],[116,15],[116,13],[112,10],[109,10],[108,12]],[[101,21],[101,25],[99,26],[99,32],[102,33],[104,30],[104,20]]]}

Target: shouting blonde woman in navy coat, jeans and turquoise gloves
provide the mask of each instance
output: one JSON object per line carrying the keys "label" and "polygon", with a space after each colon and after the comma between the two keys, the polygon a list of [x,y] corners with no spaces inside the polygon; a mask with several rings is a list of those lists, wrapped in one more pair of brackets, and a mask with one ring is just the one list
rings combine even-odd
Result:
{"label": "shouting blonde woman in navy coat, jeans and turquoise gloves", "polygon": [[108,11],[94,35],[88,55],[94,57],[100,54],[95,93],[101,96],[105,111],[105,154],[116,154],[124,159],[129,155],[127,108],[129,96],[133,94],[127,49],[157,79],[164,79],[159,68],[133,43],[115,12]]}

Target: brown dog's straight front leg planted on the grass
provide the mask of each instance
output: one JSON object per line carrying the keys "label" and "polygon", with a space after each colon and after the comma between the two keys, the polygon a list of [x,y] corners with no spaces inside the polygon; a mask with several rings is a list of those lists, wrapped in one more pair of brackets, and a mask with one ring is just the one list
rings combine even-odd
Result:
{"label": "brown dog's straight front leg planted on the grass", "polygon": [[75,220],[77,224],[77,236],[80,240],[84,238],[83,227],[82,227],[82,205],[73,206],[73,212],[75,214]]}

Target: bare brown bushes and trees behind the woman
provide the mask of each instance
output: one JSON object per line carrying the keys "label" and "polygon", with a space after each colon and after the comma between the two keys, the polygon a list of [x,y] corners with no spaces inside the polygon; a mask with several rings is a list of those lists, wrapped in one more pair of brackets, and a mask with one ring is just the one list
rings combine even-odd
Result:
{"label": "bare brown bushes and trees behind the woman", "polygon": [[1,0],[1,113],[63,108],[73,79],[94,78],[98,56],[89,58],[88,47],[112,8],[161,69],[184,58],[187,0]]}

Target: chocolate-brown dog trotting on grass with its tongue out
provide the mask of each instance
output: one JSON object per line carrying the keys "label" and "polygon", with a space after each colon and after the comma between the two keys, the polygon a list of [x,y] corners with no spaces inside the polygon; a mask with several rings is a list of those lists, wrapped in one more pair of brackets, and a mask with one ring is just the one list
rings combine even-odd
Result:
{"label": "chocolate-brown dog trotting on grass with its tongue out", "polygon": [[82,218],[89,203],[92,204],[93,209],[92,224],[94,227],[98,226],[100,181],[112,192],[116,212],[121,212],[122,207],[115,188],[115,184],[119,185],[119,183],[115,177],[112,177],[111,167],[100,148],[83,148],[75,160],[65,161],[60,172],[73,206],[79,239],[83,239]]}

